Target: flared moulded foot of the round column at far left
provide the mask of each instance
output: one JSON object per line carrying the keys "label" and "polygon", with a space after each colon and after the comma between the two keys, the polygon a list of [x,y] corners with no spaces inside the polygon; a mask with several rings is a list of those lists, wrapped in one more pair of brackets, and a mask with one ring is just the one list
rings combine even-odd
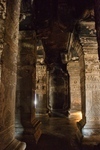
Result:
{"label": "flared moulded foot of the round column at far left", "polygon": [[14,139],[4,150],[25,150],[26,143]]}

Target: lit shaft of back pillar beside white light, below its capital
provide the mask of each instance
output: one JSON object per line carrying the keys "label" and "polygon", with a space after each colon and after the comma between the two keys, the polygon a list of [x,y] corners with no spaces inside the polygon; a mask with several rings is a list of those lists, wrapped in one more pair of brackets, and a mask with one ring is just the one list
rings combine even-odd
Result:
{"label": "lit shaft of back pillar beside white light, below its capital", "polygon": [[35,112],[47,114],[47,68],[45,64],[36,64]]}

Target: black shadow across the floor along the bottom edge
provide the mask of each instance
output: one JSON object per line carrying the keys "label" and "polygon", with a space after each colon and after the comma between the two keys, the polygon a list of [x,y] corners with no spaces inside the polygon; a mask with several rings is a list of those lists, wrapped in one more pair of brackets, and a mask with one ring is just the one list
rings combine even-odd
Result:
{"label": "black shadow across the floor along the bottom edge", "polygon": [[42,134],[36,150],[100,150],[100,144],[94,146],[81,145],[77,141],[71,142],[69,137],[65,139],[55,135]]}

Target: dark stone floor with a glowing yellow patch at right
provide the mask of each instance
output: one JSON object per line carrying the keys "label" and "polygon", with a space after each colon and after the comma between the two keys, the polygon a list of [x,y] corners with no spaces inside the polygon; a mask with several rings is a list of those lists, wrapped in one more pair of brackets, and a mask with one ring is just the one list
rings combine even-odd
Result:
{"label": "dark stone floor with a glowing yellow patch at right", "polygon": [[99,144],[82,144],[83,136],[76,124],[81,119],[80,112],[71,112],[68,118],[48,115],[36,115],[36,118],[42,122],[36,150],[100,150]]}

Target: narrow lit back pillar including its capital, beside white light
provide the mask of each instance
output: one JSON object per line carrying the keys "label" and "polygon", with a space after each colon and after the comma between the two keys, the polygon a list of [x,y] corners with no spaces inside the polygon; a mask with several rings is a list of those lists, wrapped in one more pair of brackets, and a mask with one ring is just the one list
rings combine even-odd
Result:
{"label": "narrow lit back pillar including its capital, beside white light", "polygon": [[35,112],[36,115],[47,114],[47,67],[44,62],[45,52],[41,40],[37,41],[36,48],[36,90]]}

